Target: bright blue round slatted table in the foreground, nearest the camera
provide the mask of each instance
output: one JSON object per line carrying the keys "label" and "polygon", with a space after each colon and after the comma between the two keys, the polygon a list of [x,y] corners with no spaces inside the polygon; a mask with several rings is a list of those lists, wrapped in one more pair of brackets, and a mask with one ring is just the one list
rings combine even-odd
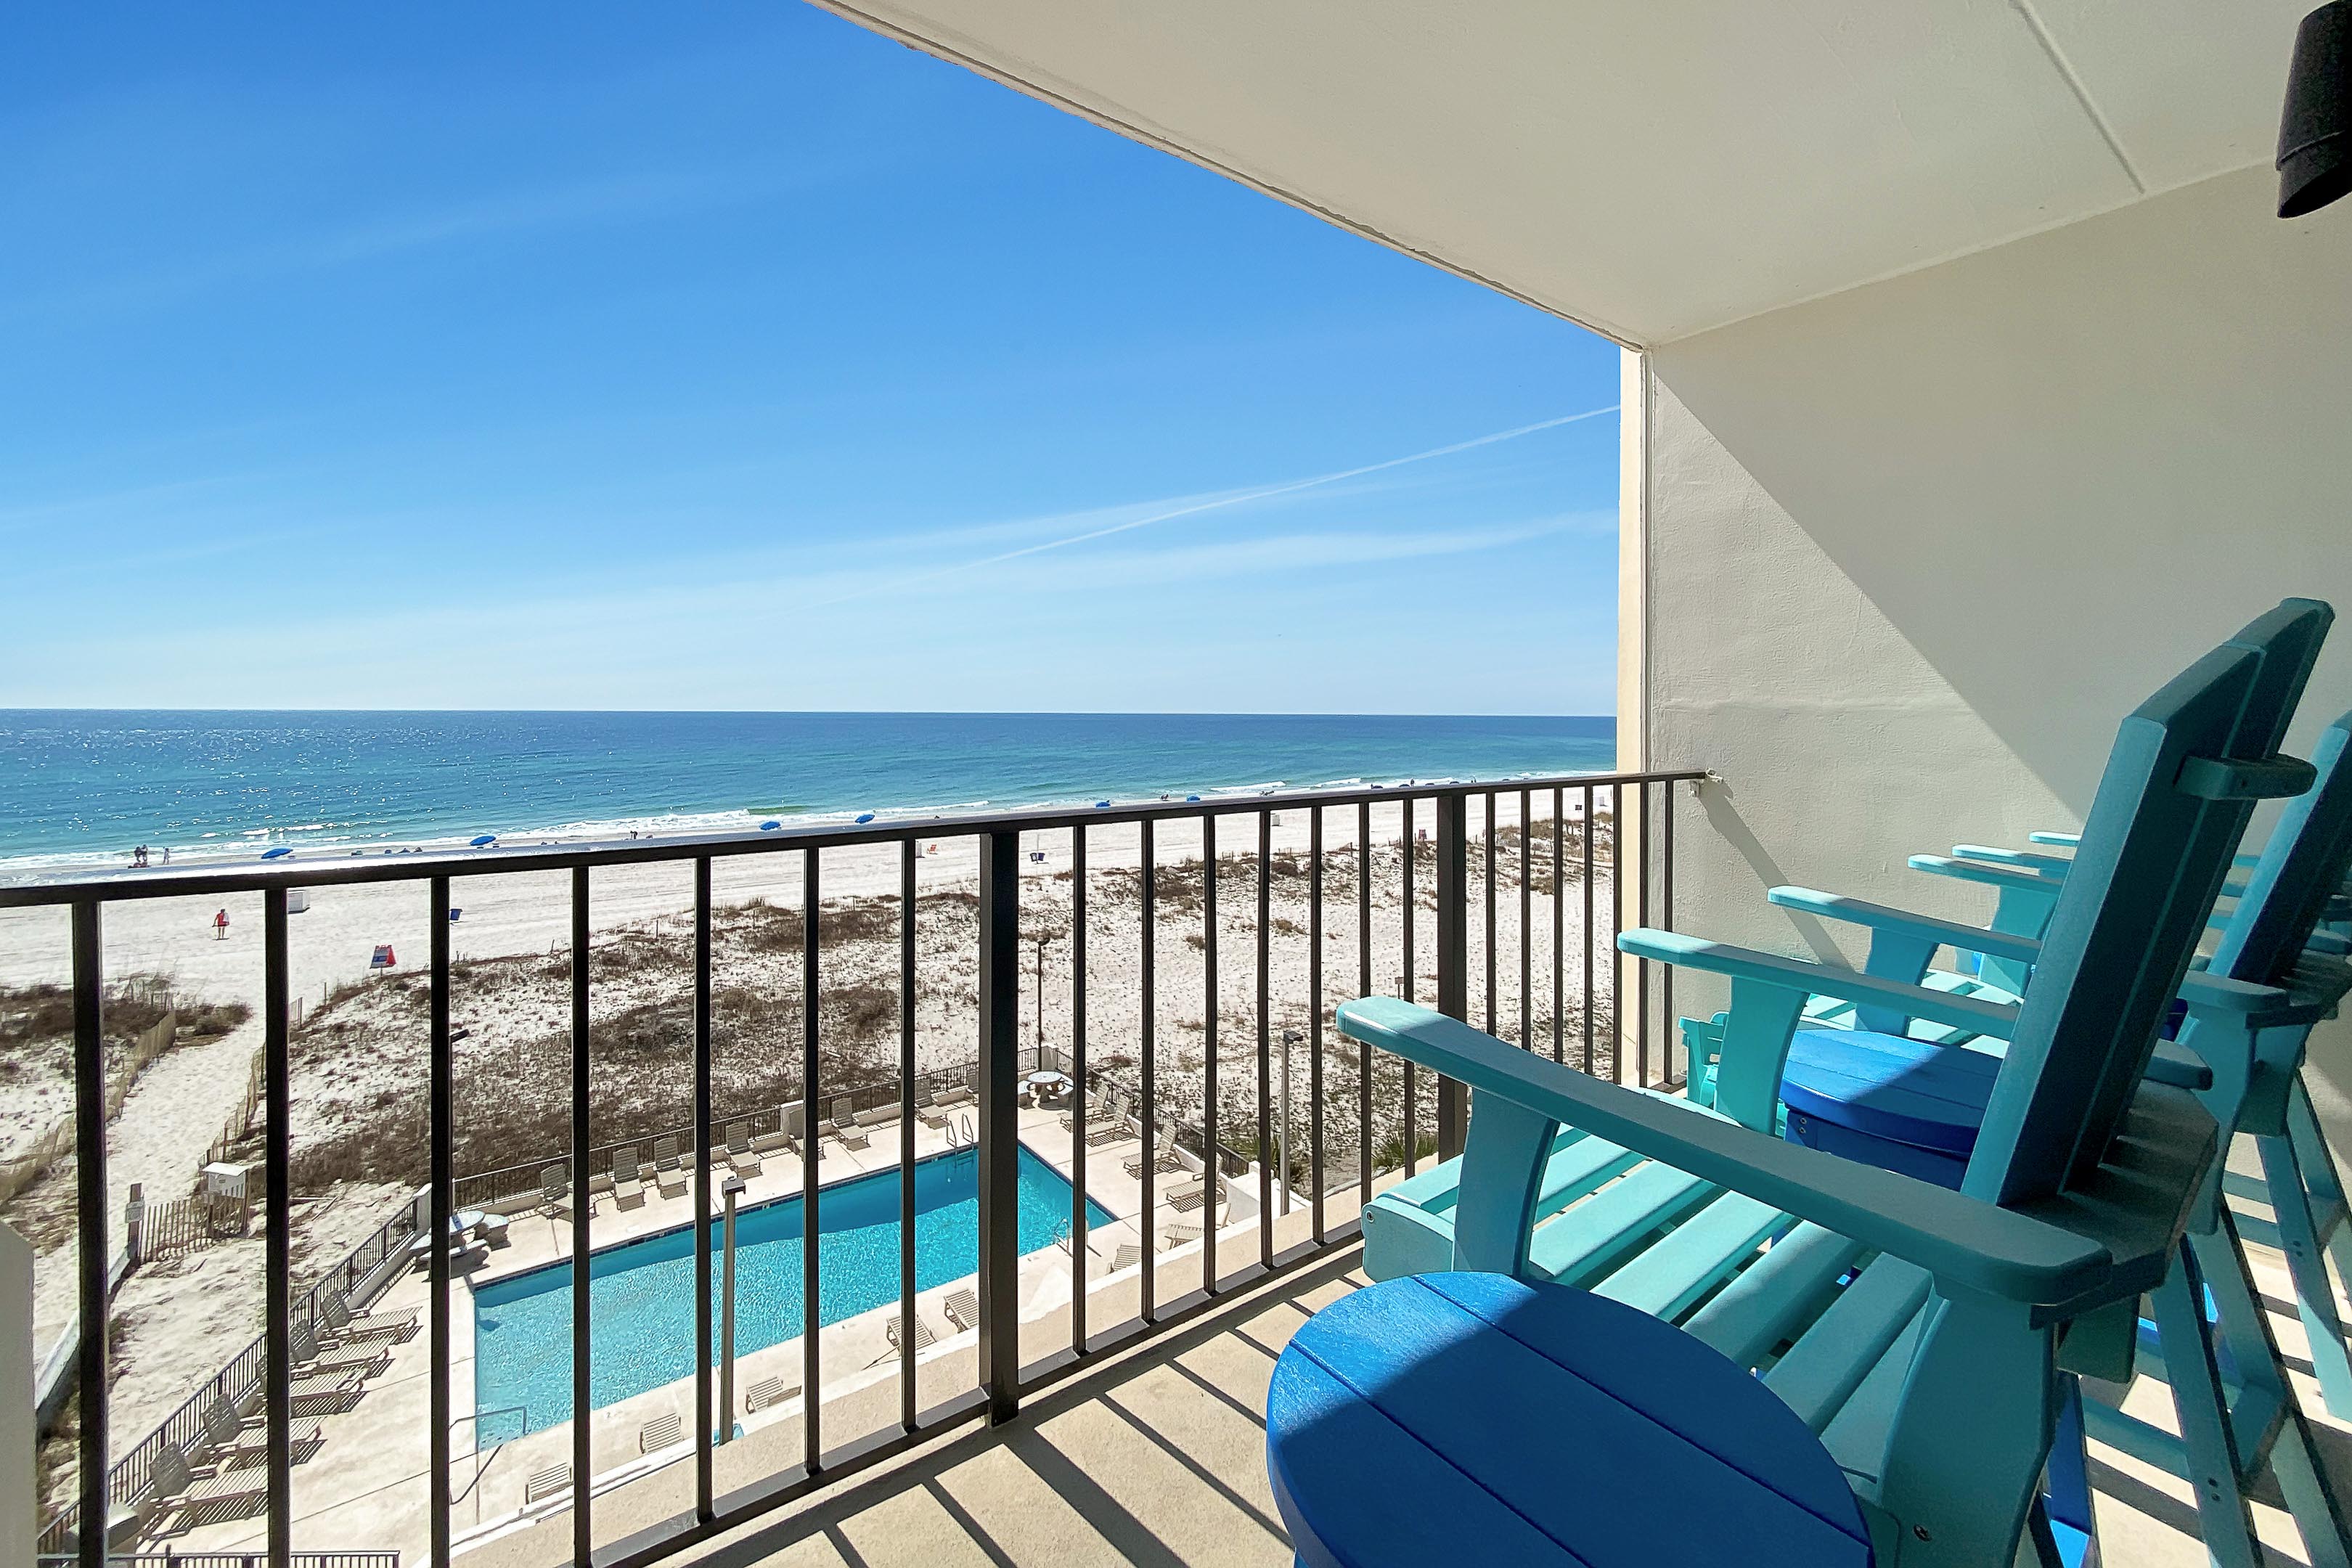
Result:
{"label": "bright blue round slatted table in the foreground, nearest the camera", "polygon": [[1265,1396],[1310,1568],[1867,1568],[1844,1472],[1672,1324],[1501,1274],[1390,1279],[1291,1335]]}

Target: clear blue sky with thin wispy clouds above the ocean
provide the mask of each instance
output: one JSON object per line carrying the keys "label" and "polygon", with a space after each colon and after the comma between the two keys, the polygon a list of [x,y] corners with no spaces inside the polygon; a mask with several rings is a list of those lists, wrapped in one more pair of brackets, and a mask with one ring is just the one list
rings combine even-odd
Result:
{"label": "clear blue sky with thin wispy clouds above the ocean", "polygon": [[0,38],[0,705],[1611,708],[1616,348],[1174,158],[786,0]]}

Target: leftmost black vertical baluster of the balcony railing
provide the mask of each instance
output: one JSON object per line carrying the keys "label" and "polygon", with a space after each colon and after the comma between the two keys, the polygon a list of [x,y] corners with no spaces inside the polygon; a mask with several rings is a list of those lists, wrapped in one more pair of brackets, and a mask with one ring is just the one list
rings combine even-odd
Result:
{"label": "leftmost black vertical baluster of the balcony railing", "polygon": [[106,1034],[99,1016],[103,994],[106,950],[99,936],[99,903],[80,898],[73,905],[73,1197],[82,1276],[82,1338],[75,1356],[82,1418],[78,1519],[82,1568],[106,1568],[106,1526],[113,1512],[106,1497],[106,1324],[113,1260],[106,1244]]}

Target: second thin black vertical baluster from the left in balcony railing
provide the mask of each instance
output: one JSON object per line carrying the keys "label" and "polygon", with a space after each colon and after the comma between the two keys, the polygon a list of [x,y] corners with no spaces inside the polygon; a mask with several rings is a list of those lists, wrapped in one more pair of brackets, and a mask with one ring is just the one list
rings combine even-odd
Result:
{"label": "second thin black vertical baluster from the left in balcony railing", "polygon": [[261,893],[261,1091],[263,1091],[263,1286],[261,1324],[268,1366],[261,1373],[261,1408],[268,1427],[270,1465],[270,1568],[294,1563],[294,1182],[289,1140],[294,1126],[287,1084],[287,891]]}

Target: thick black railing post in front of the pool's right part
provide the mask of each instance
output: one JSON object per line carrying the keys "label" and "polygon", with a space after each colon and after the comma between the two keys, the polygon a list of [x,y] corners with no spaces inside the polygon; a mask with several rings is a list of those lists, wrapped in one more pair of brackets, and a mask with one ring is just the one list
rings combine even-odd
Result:
{"label": "thick black railing post in front of the pool's right part", "polygon": [[[981,839],[981,1389],[1021,1410],[1021,835]],[[913,1333],[913,1326],[908,1326]]]}

